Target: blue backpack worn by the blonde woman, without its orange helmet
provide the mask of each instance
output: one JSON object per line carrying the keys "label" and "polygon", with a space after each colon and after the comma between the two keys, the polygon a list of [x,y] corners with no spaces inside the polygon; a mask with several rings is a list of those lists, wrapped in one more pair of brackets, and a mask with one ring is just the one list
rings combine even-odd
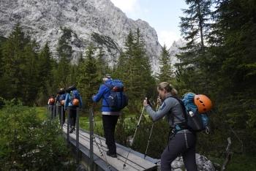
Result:
{"label": "blue backpack worn by the blonde woman, without its orange helmet", "polygon": [[[176,125],[176,130],[189,129],[190,132],[201,132],[206,130],[206,133],[209,132],[208,124],[209,118],[207,113],[199,113],[197,105],[195,104],[195,95],[192,93],[187,93],[183,96],[182,99],[178,99],[175,96],[173,98],[177,99],[178,102],[182,104],[186,113],[186,123],[185,126]],[[174,117],[178,118],[176,115]],[[173,118],[173,117],[172,117]],[[178,118],[179,121],[181,121]],[[182,128],[183,127],[183,128]]]}

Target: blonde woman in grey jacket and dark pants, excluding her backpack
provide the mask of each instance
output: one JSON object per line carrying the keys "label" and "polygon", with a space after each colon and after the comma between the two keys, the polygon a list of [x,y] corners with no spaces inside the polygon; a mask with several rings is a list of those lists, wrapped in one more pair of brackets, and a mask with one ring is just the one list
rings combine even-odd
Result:
{"label": "blonde woman in grey jacket and dark pants, excluding her backpack", "polygon": [[[157,91],[161,97],[157,99],[157,102],[161,105],[159,110],[155,112],[147,103],[147,100],[144,100],[143,105],[146,107],[148,115],[150,115],[154,121],[159,121],[161,118],[165,117],[171,127],[169,133],[170,141],[161,155],[161,170],[171,170],[170,164],[182,153],[186,170],[197,171],[197,164],[195,161],[195,145],[197,143],[196,133],[189,132],[188,129],[182,129],[176,132],[175,129],[175,126],[178,123],[186,121],[184,109],[178,100],[168,98],[170,96],[178,96],[178,91],[167,82],[159,83]],[[176,115],[180,119],[178,120],[176,117],[172,118],[170,113],[173,113],[173,115]]]}

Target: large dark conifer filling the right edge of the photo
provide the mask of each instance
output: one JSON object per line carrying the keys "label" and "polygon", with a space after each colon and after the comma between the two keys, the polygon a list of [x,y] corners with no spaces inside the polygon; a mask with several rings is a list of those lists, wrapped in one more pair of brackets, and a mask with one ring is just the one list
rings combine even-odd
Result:
{"label": "large dark conifer filling the right edge of the photo", "polygon": [[[213,84],[217,91],[218,112],[240,136],[255,142],[255,1],[218,1],[211,32],[211,72],[216,72]],[[219,100],[219,94],[222,94]],[[247,128],[246,130],[244,128]],[[222,129],[223,130],[223,129]],[[244,131],[242,131],[244,130]],[[249,149],[255,149],[252,143]],[[251,152],[251,151],[250,151]]]}

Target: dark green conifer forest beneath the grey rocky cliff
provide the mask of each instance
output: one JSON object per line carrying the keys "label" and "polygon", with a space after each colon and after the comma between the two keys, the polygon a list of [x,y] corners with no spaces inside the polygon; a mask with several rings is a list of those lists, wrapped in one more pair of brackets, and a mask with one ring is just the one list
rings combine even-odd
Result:
{"label": "dark green conifer forest beneath the grey rocky cliff", "polygon": [[[154,104],[157,85],[166,81],[178,90],[180,97],[187,92],[205,94],[213,103],[208,112],[211,132],[198,133],[197,153],[216,158],[230,153],[255,156],[256,1],[186,0],[186,3],[189,9],[183,9],[186,17],[181,18],[180,28],[187,45],[176,55],[180,63],[170,65],[170,54],[164,45],[160,72],[156,75],[152,75],[140,28],[129,31],[116,64],[110,66],[104,51],[94,42],[84,52],[86,58],[81,54],[72,63],[69,28],[61,28],[64,34],[56,47],[58,58],[53,58],[48,42],[40,47],[23,31],[21,23],[17,23],[8,37],[0,37],[0,96],[18,99],[29,107],[34,104],[42,107],[60,88],[75,84],[83,99],[83,111],[87,113],[93,107],[91,96],[97,93],[103,75],[109,73],[122,80],[129,96],[129,104],[120,118],[123,119],[129,113],[140,115],[145,96]],[[100,107],[99,103],[95,110],[100,112]],[[148,121],[142,125],[145,129],[151,127]],[[159,125],[155,127],[162,133],[155,136],[167,140],[167,125]],[[145,147],[142,149],[140,145],[148,137],[143,132],[138,134],[141,141],[135,143],[135,148],[143,152]],[[228,137],[232,140],[230,153],[225,151]],[[159,140],[151,141],[159,143]],[[157,150],[162,153],[162,148],[159,145],[148,153]]]}

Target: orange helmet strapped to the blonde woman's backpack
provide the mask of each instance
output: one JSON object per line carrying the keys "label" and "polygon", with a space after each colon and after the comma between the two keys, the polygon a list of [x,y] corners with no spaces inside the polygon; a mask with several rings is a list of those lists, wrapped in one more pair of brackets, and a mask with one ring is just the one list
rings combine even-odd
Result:
{"label": "orange helmet strapped to the blonde woman's backpack", "polygon": [[195,105],[197,105],[198,112],[200,113],[207,113],[209,110],[211,110],[212,103],[211,99],[209,99],[207,96],[203,94],[195,95]]}

